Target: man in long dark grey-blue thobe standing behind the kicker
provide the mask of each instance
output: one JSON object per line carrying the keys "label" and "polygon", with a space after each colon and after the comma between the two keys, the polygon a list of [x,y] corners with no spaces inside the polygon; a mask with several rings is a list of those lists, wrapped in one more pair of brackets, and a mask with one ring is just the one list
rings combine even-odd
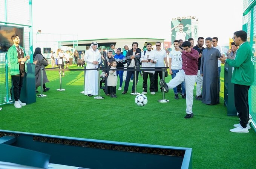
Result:
{"label": "man in long dark grey-blue thobe standing behind the kicker", "polygon": [[200,74],[203,77],[202,103],[219,104],[218,58],[221,53],[212,47],[212,38],[205,39],[206,49],[202,52]]}

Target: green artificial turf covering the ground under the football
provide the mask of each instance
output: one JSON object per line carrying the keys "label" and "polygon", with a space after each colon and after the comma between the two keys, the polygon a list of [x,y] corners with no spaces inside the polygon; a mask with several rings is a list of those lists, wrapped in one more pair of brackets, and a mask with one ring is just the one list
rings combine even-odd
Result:
{"label": "green artificial turf covering the ground under the football", "polygon": [[[72,69],[81,69],[69,66]],[[0,112],[2,130],[88,139],[112,140],[119,142],[143,143],[192,148],[193,168],[253,168],[256,164],[256,133],[231,133],[233,124],[239,123],[237,116],[227,116],[224,107],[224,70],[221,77],[221,104],[208,106],[201,101],[193,103],[194,117],[184,119],[186,102],[174,99],[173,90],[166,94],[170,103],[158,103],[162,93],[147,94],[144,107],[135,104],[130,95],[132,82],[127,94],[117,90],[117,98],[104,95],[95,100],[80,94],[83,91],[83,71],[66,71],[60,88],[58,71],[47,71],[51,88],[36,98],[36,103],[21,109],[14,104],[3,106]],[[171,76],[166,78],[169,81]],[[143,78],[139,77],[138,92],[142,92]],[[117,89],[119,87],[119,82]],[[122,89],[124,88],[124,83]],[[40,91],[40,88],[38,88]],[[196,91],[194,90],[194,96]]]}

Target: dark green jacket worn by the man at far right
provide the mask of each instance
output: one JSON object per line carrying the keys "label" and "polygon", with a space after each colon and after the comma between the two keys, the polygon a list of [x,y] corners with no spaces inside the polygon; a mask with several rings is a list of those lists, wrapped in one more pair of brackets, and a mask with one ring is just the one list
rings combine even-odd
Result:
{"label": "dark green jacket worn by the man at far right", "polygon": [[235,60],[227,59],[226,63],[234,67],[231,83],[251,86],[254,81],[254,56],[248,42],[240,45]]}

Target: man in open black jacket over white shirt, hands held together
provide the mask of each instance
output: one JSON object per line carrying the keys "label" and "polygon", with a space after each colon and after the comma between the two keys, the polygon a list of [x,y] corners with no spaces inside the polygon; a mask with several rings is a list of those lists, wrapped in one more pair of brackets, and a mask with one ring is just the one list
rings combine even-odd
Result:
{"label": "man in open black jacket over white shirt, hands held together", "polygon": [[[129,71],[129,68],[134,68],[134,66],[137,66],[137,68],[139,68],[140,66],[140,59],[141,57],[141,50],[138,48],[138,43],[137,42],[133,42],[132,43],[132,49],[127,51],[126,54],[126,60],[127,60],[127,75],[126,75],[126,80],[125,80],[125,84],[124,84],[124,91],[122,94],[126,94],[128,91],[128,87],[129,87],[129,82],[130,82],[130,78],[133,74],[134,77],[134,71]],[[138,78],[139,75],[139,71],[136,72],[136,77]],[[138,83],[138,80],[136,81],[136,85]],[[134,93],[134,85],[135,85],[135,80],[133,80],[133,84],[132,84],[132,93]]]}

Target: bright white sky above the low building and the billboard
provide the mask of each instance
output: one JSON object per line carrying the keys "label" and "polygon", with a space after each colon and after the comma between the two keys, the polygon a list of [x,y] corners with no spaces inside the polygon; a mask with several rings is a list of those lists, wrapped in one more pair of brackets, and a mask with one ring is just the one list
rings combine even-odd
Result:
{"label": "bright white sky above the low building and the billboard", "polygon": [[[156,38],[171,41],[172,18],[195,16],[198,36],[227,46],[242,30],[242,0],[34,0],[33,32],[77,35],[77,40]],[[72,39],[71,39],[72,40]]]}

